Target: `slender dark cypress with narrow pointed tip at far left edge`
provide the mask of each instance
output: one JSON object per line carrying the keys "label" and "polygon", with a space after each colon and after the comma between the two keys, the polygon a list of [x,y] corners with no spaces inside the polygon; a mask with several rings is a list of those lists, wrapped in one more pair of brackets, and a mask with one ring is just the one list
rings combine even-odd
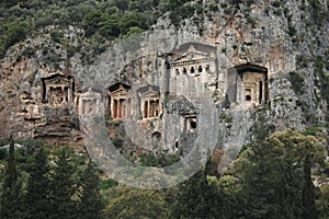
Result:
{"label": "slender dark cypress with narrow pointed tip at far left edge", "polygon": [[14,140],[10,137],[9,158],[3,177],[3,189],[0,200],[0,218],[21,217],[21,184],[18,181],[18,170],[14,157]]}

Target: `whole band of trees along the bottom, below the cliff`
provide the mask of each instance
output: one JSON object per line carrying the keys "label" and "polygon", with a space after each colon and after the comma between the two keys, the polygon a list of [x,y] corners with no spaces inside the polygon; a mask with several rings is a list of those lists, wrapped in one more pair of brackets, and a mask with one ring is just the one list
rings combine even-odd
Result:
{"label": "whole band of trees along the bottom, below the cliff", "polygon": [[273,127],[257,125],[229,170],[214,174],[218,153],[212,168],[162,191],[100,180],[88,155],[70,148],[33,147],[30,139],[29,154],[11,143],[1,160],[1,218],[328,218],[328,184],[313,182],[329,173],[322,130],[271,134]]}

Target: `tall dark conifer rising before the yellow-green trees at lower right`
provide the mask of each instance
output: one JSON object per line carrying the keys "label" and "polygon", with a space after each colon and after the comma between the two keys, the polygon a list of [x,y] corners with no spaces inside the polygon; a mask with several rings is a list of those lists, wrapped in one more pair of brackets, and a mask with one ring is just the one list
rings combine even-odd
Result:
{"label": "tall dark conifer rising before the yellow-green trees at lower right", "polygon": [[[274,207],[269,203],[270,196],[266,192],[270,189],[269,181],[272,177],[269,175],[269,165],[271,163],[269,158],[273,158],[272,147],[265,141],[270,132],[273,130],[272,126],[265,125],[265,118],[259,117],[259,122],[254,124],[254,137],[250,145],[252,152],[248,153],[248,162],[252,165],[243,165],[243,178],[241,197],[235,206],[237,215],[247,218],[264,218]],[[245,168],[246,166],[246,168]],[[274,166],[273,166],[274,168]],[[273,172],[271,174],[274,174]],[[232,211],[234,212],[234,211]]]}

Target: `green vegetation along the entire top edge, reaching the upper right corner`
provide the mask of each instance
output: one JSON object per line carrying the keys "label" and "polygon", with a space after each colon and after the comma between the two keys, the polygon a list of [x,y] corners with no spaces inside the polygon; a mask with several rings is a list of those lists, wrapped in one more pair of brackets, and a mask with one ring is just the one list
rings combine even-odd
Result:
{"label": "green vegetation along the entire top edge, reaching the upper right corner", "polygon": [[[184,19],[198,26],[203,34],[203,21],[213,20],[219,10],[227,18],[239,11],[245,4],[245,15],[249,23],[254,21],[249,16],[254,0],[60,0],[60,1],[1,1],[0,2],[0,58],[7,50],[29,36],[49,34],[53,42],[66,47],[68,57],[79,53],[82,59],[90,61],[89,56],[101,54],[110,42],[117,37],[129,37],[146,30],[151,30],[160,16],[168,16],[177,27],[184,23]],[[298,2],[302,11],[308,10],[304,0]],[[272,10],[276,15],[284,15],[288,21],[288,34],[293,42],[298,43],[298,30],[292,22],[288,5],[283,1],[273,1],[266,5],[266,13]],[[183,13],[182,13],[183,12]],[[311,20],[303,20],[307,25],[321,26],[329,20],[328,12],[318,0],[309,1]],[[160,27],[160,26],[159,26]],[[78,44],[69,43],[65,32],[79,30]],[[91,53],[91,54],[89,54]],[[43,48],[46,57],[48,48]],[[31,47],[22,51],[21,56],[35,55]],[[19,58],[20,58],[19,57]],[[63,57],[50,57],[50,62],[60,61]]]}

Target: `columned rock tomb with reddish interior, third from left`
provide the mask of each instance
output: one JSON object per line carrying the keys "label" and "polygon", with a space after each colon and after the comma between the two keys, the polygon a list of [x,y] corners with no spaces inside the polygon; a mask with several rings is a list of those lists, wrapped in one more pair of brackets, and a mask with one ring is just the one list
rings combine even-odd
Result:
{"label": "columned rock tomb with reddish interior, third from left", "polygon": [[131,87],[124,83],[116,83],[107,91],[110,115],[113,119],[129,117]]}

